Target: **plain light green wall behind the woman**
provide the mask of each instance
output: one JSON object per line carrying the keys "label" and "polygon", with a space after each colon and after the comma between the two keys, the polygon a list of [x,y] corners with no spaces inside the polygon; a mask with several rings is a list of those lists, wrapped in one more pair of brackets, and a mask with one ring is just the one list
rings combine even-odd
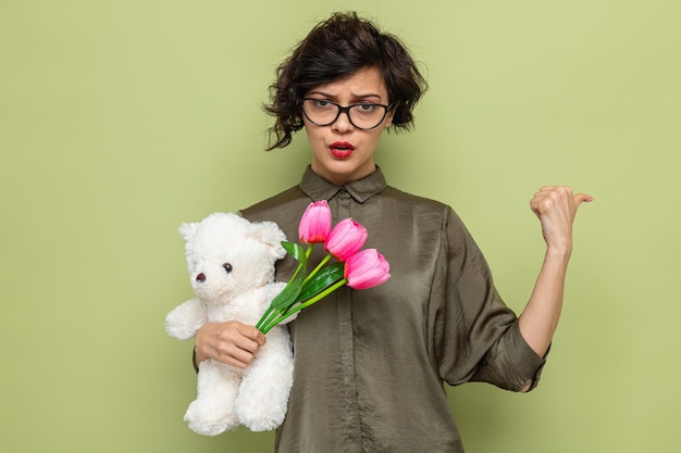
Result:
{"label": "plain light green wall behind the woman", "polygon": [[468,451],[678,452],[674,0],[0,0],[0,450],[272,450],[272,433],[206,438],[182,420],[191,342],[163,330],[191,295],[176,229],[297,183],[305,137],[265,153],[261,103],[339,9],[421,62],[417,128],[376,160],[458,211],[509,305],[543,255],[534,191],[596,198],[541,386],[449,390]]}

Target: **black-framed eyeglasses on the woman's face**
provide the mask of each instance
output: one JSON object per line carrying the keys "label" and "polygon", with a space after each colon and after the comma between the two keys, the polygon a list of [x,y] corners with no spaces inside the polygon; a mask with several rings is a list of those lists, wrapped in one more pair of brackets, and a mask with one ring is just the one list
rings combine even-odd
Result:
{"label": "black-framed eyeglasses on the woman's face", "polygon": [[348,106],[339,105],[324,99],[305,98],[302,113],[317,126],[329,126],[338,119],[342,113],[348,115],[350,124],[358,129],[370,130],[379,127],[391,111],[391,105],[361,102]]}

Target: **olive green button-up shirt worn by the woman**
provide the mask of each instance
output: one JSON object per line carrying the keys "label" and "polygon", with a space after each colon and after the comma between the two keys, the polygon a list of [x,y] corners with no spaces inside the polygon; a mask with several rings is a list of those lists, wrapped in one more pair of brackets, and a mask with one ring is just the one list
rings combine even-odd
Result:
{"label": "olive green button-up shirt worn by the woman", "polygon": [[[451,207],[386,185],[380,169],[336,187],[308,167],[302,180],[242,214],[276,222],[298,241],[311,201],[327,200],[334,225],[352,217],[392,278],[343,287],[289,325],[294,386],[278,453],[449,453],[463,446],[444,382],[536,385],[543,357],[520,335],[487,264]],[[310,268],[323,252],[314,246]],[[286,281],[296,266],[277,264]]]}

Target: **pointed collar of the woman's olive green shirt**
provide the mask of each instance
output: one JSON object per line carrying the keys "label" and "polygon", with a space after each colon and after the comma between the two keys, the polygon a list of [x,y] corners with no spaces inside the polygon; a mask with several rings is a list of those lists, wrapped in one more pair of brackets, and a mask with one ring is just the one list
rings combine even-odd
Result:
{"label": "pointed collar of the woman's olive green shirt", "polygon": [[343,186],[335,186],[312,172],[312,168],[308,165],[300,180],[300,189],[313,201],[331,200],[336,193],[345,189],[358,203],[363,203],[386,187],[385,177],[379,166],[376,166],[375,172],[361,179]]}

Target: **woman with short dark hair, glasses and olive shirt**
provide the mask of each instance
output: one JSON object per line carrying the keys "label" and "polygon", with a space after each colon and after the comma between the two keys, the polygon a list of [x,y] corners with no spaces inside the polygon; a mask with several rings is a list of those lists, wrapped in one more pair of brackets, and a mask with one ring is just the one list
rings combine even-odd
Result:
{"label": "woman with short dark hair, glasses and olive shirt", "polygon": [[[547,247],[517,317],[455,212],[388,186],[374,162],[386,128],[410,128],[424,89],[399,40],[356,14],[315,26],[280,66],[270,149],[305,128],[311,164],[298,186],[242,214],[296,238],[307,205],[327,200],[334,223],[351,216],[367,227],[367,247],[386,256],[393,278],[343,288],[290,324],[294,388],[277,452],[462,452],[443,382],[512,391],[537,383],[561,310],[574,214],[591,198],[545,187],[532,199]],[[281,262],[277,278],[293,266]],[[246,367],[264,341],[252,326],[209,324],[197,334],[196,361]]]}

